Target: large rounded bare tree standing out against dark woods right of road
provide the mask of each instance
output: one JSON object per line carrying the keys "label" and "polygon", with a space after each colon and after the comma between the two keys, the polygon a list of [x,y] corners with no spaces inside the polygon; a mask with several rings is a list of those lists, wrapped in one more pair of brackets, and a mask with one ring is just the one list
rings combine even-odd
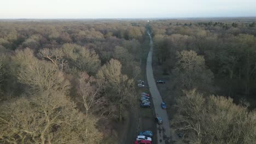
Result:
{"label": "large rounded bare tree standing out against dark woods right of road", "polygon": [[197,56],[195,51],[177,52],[173,73],[182,88],[187,90],[198,88],[210,91],[212,88],[213,73],[206,68],[203,56]]}

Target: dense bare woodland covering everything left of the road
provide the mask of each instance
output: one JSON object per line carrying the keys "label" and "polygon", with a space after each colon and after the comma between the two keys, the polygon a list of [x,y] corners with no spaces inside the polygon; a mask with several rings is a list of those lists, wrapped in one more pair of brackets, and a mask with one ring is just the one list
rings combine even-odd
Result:
{"label": "dense bare woodland covering everything left of the road", "polygon": [[113,126],[135,99],[145,26],[1,21],[0,143],[117,139]]}

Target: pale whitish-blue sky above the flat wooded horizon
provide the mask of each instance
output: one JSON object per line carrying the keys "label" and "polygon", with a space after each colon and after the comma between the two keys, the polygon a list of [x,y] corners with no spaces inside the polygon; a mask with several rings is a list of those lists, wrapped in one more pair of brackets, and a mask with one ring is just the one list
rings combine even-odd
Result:
{"label": "pale whitish-blue sky above the flat wooded horizon", "polygon": [[0,0],[0,19],[256,16],[256,0]]}

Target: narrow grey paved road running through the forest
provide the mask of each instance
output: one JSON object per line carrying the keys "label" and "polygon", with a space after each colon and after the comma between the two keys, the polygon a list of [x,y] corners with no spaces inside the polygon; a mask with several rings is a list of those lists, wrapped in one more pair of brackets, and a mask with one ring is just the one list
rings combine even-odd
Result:
{"label": "narrow grey paved road running through the forest", "polygon": [[150,38],[150,50],[147,58],[147,80],[149,91],[152,95],[155,115],[156,117],[162,118],[162,124],[157,125],[157,135],[158,135],[158,144],[168,144],[171,141],[171,131],[169,126],[169,120],[166,110],[161,108],[162,97],[158,91],[158,87],[156,87],[153,69],[152,69],[152,53],[153,53],[153,41],[150,33],[148,32]]}

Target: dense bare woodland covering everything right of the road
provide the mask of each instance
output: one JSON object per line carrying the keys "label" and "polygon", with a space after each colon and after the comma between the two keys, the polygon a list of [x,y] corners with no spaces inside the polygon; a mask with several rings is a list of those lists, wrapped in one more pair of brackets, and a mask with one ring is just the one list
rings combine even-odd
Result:
{"label": "dense bare woodland covering everything right of the road", "polygon": [[173,80],[172,127],[184,143],[256,142],[253,21],[150,22],[158,64]]}

